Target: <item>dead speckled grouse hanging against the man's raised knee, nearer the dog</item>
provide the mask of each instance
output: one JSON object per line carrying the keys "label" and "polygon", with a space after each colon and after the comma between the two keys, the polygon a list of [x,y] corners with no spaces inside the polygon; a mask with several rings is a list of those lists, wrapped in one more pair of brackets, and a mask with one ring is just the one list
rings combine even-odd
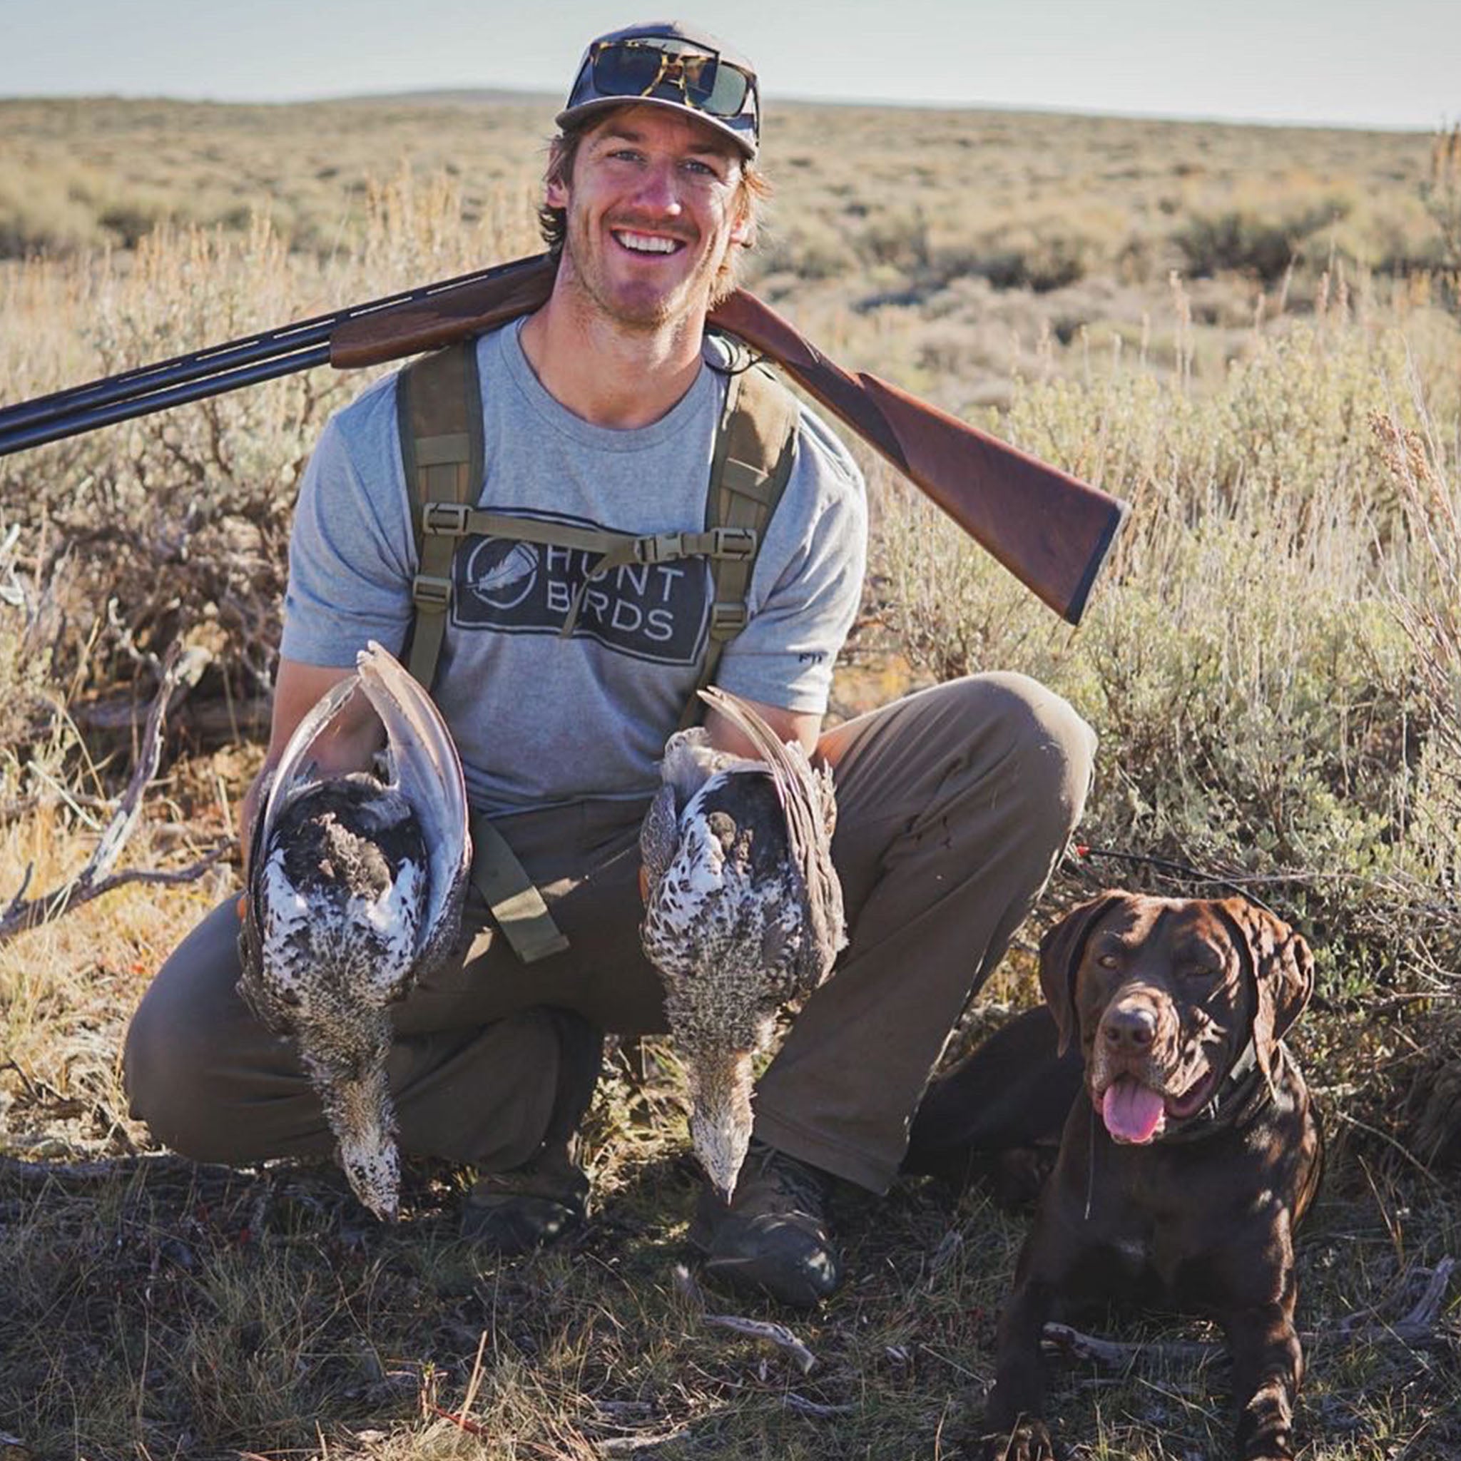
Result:
{"label": "dead speckled grouse hanging against the man's raised knee, nearer the dog", "polygon": [[729,1201],[751,1141],[752,1061],[777,1010],[809,995],[847,939],[831,771],[745,701],[701,695],[760,760],[712,749],[698,726],[669,738],[640,828],[640,937],[690,1081],[691,1144]]}

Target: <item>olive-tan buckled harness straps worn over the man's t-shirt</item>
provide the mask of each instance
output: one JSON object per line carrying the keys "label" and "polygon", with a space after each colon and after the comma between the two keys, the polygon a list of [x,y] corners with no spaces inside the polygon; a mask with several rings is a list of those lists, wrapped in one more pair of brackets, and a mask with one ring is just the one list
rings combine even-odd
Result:
{"label": "olive-tan buckled harness straps worn over the man's t-shirt", "polygon": [[[722,339],[726,339],[722,336]],[[732,367],[710,456],[706,524],[700,532],[611,533],[539,523],[475,506],[485,475],[482,393],[476,340],[462,340],[408,365],[396,386],[396,421],[406,469],[406,495],[416,539],[415,603],[406,668],[431,691],[451,605],[451,560],[470,536],[598,554],[574,593],[561,634],[573,633],[589,587],[627,564],[706,558],[712,602],[704,659],[681,725],[700,713],[698,691],[710,684],[726,644],[745,628],[751,571],[766,526],[792,475],[798,406],[792,393],[739,342],[726,339]],[[503,834],[472,814],[472,881],[492,919],[530,964],[568,947]]]}

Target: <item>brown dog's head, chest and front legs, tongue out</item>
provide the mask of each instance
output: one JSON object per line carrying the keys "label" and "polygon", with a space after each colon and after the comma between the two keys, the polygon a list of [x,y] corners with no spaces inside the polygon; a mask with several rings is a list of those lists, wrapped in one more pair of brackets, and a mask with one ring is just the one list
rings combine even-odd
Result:
{"label": "brown dog's head, chest and front legs, tongue out", "polygon": [[1303,1359],[1293,1226],[1319,1128],[1281,1043],[1313,989],[1305,941],[1245,899],[1106,893],[1040,945],[1059,1045],[1084,1088],[999,1324],[985,1455],[1046,1461],[1040,1334],[1056,1305],[1208,1313],[1233,1356],[1237,1454],[1293,1455]]}

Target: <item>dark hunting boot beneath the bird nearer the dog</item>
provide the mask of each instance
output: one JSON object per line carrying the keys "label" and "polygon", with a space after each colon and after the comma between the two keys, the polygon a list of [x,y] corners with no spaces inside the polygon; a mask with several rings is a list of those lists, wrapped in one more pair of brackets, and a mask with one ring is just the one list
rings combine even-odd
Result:
{"label": "dark hunting boot beneath the bird nearer the dog", "polygon": [[729,1207],[709,1188],[690,1239],[707,1277],[809,1309],[842,1280],[827,1205],[833,1179],[774,1147],[752,1141]]}

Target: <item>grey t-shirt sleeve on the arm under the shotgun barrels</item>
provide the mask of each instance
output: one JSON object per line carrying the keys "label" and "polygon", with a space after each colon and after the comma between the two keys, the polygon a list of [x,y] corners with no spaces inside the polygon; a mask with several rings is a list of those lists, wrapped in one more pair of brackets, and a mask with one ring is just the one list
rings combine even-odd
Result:
{"label": "grey t-shirt sleeve on the arm under the shotgun barrels", "polygon": [[405,644],[416,570],[393,399],[386,383],[332,416],[305,468],[289,536],[286,659],[348,669],[368,640],[392,653]]}

